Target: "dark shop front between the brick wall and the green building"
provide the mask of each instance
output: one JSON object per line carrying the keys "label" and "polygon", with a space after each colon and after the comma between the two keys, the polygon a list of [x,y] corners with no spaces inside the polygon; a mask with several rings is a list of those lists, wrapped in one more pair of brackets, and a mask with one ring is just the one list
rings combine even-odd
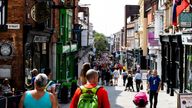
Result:
{"label": "dark shop front between the brick wall and the green building", "polygon": [[30,71],[36,68],[42,73],[49,67],[50,38],[52,33],[30,30],[24,46],[25,81],[31,79]]}

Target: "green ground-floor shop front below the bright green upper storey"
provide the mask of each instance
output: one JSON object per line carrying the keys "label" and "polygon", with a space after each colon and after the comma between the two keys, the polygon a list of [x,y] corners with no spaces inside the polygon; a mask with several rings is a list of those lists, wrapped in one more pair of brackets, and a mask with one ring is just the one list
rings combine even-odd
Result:
{"label": "green ground-floor shop front below the bright green upper storey", "polygon": [[77,78],[77,44],[62,45],[57,43],[57,80],[71,81]]}

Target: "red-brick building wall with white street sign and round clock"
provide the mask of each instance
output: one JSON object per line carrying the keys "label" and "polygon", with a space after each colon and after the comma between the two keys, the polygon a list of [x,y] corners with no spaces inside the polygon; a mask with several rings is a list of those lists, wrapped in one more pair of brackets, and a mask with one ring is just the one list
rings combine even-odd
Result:
{"label": "red-brick building wall with white street sign and round clock", "polygon": [[0,78],[11,86],[23,85],[23,22],[25,0],[0,0]]}

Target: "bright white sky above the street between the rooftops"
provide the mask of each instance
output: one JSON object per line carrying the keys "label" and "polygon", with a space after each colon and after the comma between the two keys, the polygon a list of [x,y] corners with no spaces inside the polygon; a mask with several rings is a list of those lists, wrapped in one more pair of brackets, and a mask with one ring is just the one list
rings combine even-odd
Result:
{"label": "bright white sky above the street between the rooftops", "polygon": [[[139,0],[80,0],[90,8],[90,22],[94,30],[110,36],[124,25],[125,5],[137,5]],[[90,5],[89,5],[90,4]]]}

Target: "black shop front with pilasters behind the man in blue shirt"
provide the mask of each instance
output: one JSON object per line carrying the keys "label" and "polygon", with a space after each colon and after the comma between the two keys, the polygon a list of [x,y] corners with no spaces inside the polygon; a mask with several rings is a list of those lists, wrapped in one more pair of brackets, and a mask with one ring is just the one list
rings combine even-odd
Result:
{"label": "black shop front with pilasters behind the man in blue shirt", "polygon": [[167,93],[174,90],[183,92],[183,45],[181,35],[161,35],[162,89],[167,85]]}

